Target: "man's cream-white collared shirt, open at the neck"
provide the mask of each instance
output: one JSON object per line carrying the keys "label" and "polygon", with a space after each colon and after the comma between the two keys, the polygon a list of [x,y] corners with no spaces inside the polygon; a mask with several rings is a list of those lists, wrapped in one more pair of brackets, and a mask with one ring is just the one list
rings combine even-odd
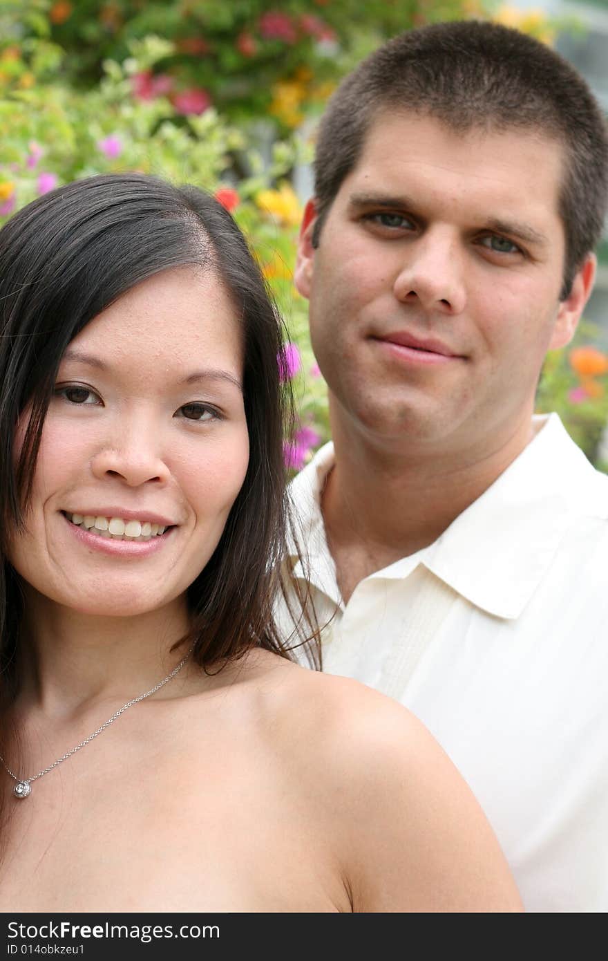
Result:
{"label": "man's cream-white collared shirt, open at the neck", "polygon": [[[324,670],[397,698],[499,837],[528,911],[608,911],[608,477],[558,416],[430,546],[343,604],[320,493],[292,482]],[[303,565],[292,556],[294,575]],[[290,620],[280,606],[280,621]]]}

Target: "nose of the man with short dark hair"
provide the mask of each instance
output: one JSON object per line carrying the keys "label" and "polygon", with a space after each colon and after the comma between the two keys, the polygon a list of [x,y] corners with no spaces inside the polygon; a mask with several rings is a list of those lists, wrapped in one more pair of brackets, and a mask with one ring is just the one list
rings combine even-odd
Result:
{"label": "nose of the man with short dark hair", "polygon": [[405,248],[395,296],[427,311],[459,314],[467,303],[464,255],[446,230],[429,230]]}

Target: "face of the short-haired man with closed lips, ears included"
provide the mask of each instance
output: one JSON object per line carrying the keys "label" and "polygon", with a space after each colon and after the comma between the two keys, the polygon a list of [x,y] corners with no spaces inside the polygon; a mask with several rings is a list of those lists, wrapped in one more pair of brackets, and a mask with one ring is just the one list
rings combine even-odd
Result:
{"label": "face of the short-haired man with closed lips, ears included", "polygon": [[594,276],[590,258],[559,302],[562,172],[561,146],[532,132],[377,119],[317,249],[307,209],[296,268],[334,430],[443,453],[529,430]]}

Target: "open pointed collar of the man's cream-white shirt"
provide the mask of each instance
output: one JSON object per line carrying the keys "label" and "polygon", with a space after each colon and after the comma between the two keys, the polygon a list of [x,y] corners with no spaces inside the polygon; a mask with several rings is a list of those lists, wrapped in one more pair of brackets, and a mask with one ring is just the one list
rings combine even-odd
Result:
{"label": "open pointed collar of the man's cream-white shirt", "polygon": [[[572,441],[557,414],[533,418],[522,454],[431,545],[372,577],[400,579],[423,563],[458,594],[499,618],[516,619],[551,565],[566,530],[580,516],[608,517],[608,479]],[[314,577],[329,587],[320,497],[334,461],[325,445],[292,483]],[[296,577],[304,576],[294,567]],[[328,593],[333,593],[328,591]]]}

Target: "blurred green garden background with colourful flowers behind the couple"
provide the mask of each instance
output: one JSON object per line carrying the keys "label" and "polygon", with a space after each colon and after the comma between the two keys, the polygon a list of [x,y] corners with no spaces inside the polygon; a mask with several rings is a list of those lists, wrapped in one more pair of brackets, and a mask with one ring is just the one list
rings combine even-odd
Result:
{"label": "blurred green garden background with colourful flowers behind the couple", "polygon": [[[284,318],[278,363],[298,406],[285,463],[299,470],[328,439],[325,384],[292,284],[316,119],[379,43],[463,17],[547,43],[581,29],[491,0],[3,0],[0,224],[95,173],[139,170],[213,192],[247,235]],[[607,385],[601,333],[583,324],[570,350],[547,357],[538,409],[558,410],[608,470]]]}

